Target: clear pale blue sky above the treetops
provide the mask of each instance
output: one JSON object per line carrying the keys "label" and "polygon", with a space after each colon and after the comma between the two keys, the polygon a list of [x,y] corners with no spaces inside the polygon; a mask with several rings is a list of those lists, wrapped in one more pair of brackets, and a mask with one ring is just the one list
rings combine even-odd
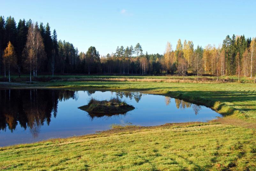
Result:
{"label": "clear pale blue sky above the treetops", "polygon": [[140,43],[143,52],[163,53],[167,41],[192,40],[218,46],[226,35],[255,37],[256,1],[13,1],[0,0],[0,15],[49,22],[58,39],[79,51],[95,46],[100,54]]}

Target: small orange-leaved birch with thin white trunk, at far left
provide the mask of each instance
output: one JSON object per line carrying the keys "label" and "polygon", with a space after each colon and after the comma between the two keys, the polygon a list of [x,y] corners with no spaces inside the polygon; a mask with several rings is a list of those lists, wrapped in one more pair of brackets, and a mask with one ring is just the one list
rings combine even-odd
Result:
{"label": "small orange-leaved birch with thin white trunk, at far left", "polygon": [[9,82],[11,82],[10,78],[10,68],[17,64],[16,54],[14,51],[14,47],[11,42],[8,42],[7,47],[4,49],[4,67],[8,65],[8,72],[9,72]]}

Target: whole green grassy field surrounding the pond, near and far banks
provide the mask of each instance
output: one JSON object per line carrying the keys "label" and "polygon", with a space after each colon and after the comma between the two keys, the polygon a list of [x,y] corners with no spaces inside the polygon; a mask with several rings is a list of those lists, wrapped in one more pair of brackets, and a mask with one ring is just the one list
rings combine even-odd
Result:
{"label": "whole green grassy field surrounding the pond, near and far banks", "polygon": [[225,116],[202,125],[116,126],[99,134],[3,147],[0,170],[256,170],[254,83],[55,80],[0,82],[0,87],[141,91],[203,104]]}

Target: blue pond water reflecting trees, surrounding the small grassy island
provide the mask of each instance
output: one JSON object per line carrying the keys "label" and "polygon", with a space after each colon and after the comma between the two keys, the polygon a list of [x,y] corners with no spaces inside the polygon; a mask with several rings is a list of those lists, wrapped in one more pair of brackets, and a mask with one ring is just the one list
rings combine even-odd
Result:
{"label": "blue pond water reflecting trees, surrounding the small grassy island", "polygon": [[[78,109],[91,97],[119,97],[135,109],[112,116],[90,115]],[[205,106],[140,92],[6,89],[0,90],[0,104],[0,146],[90,134],[112,124],[152,126],[205,122],[221,116]]]}

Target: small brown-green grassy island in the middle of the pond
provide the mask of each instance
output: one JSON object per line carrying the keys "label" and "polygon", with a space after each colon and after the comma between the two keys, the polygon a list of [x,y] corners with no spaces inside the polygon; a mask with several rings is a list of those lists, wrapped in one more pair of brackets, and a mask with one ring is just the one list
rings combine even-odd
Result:
{"label": "small brown-green grassy island in the middle of the pond", "polygon": [[125,114],[135,108],[121,101],[119,98],[111,98],[110,100],[102,101],[91,98],[87,105],[80,106],[79,109],[87,111],[93,118]]}

